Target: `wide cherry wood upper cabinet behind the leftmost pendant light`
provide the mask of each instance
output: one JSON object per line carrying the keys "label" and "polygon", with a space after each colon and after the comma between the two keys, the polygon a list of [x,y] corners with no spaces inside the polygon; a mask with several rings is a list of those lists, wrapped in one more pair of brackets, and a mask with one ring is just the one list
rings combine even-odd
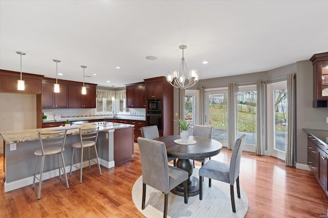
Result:
{"label": "wide cherry wood upper cabinet behind the leftmost pendant light", "polygon": [[25,81],[25,90],[19,91],[17,90],[17,80],[20,80],[20,73],[9,70],[0,70],[0,91],[41,94],[43,77],[44,76],[23,73],[22,79]]}

